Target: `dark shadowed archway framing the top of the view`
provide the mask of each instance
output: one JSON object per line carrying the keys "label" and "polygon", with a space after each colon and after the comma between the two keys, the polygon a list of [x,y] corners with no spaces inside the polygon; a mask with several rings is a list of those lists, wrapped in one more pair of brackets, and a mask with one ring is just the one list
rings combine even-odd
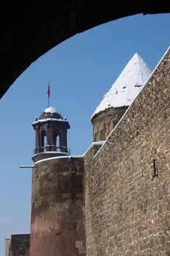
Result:
{"label": "dark shadowed archway framing the top of the view", "polygon": [[39,56],[94,26],[170,12],[167,0],[30,0],[0,3],[0,98]]}

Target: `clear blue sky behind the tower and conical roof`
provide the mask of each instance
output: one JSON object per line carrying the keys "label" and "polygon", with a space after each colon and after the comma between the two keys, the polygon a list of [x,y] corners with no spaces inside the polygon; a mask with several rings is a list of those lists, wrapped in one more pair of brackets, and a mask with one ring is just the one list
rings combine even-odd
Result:
{"label": "clear blue sky behind the tower and conical roof", "polygon": [[[154,69],[170,45],[170,14],[134,15],[67,39],[31,64],[0,100],[0,255],[4,238],[28,233],[35,145],[31,123],[50,105],[68,119],[68,146],[83,154],[93,140],[90,116],[134,53]],[[41,42],[39,42],[41,43]]]}

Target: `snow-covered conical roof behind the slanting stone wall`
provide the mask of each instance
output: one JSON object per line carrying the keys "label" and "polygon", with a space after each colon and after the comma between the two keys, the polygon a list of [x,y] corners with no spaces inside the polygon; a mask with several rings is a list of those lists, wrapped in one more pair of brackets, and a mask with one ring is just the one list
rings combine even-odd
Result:
{"label": "snow-covered conical roof behind the slanting stone wall", "polygon": [[[135,53],[120,73],[111,89],[104,95],[93,116],[107,108],[129,106],[151,74],[150,67]],[[91,118],[93,118],[93,116]]]}

